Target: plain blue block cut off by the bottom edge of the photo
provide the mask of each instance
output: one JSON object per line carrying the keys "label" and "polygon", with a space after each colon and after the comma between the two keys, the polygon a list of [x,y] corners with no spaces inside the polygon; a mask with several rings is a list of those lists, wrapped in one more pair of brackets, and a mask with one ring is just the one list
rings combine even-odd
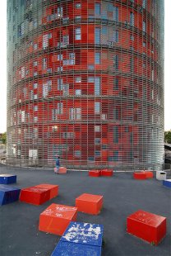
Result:
{"label": "plain blue block cut off by the bottom edge of the photo", "polygon": [[51,256],[100,256],[101,247],[59,241]]}

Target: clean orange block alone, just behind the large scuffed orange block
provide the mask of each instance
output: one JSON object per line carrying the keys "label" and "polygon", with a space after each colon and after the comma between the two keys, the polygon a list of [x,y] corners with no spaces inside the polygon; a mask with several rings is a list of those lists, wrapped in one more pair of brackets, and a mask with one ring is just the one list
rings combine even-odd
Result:
{"label": "clean orange block alone, just behind the large scuffed orange block", "polygon": [[82,194],[76,198],[78,211],[97,215],[103,206],[103,196]]}

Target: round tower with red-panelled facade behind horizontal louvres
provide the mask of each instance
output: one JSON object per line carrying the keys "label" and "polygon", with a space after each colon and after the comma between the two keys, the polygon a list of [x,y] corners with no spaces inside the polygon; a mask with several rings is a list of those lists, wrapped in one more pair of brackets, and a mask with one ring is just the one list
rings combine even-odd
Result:
{"label": "round tower with red-panelled facade behind horizontal louvres", "polygon": [[161,168],[163,0],[7,1],[7,163]]}

